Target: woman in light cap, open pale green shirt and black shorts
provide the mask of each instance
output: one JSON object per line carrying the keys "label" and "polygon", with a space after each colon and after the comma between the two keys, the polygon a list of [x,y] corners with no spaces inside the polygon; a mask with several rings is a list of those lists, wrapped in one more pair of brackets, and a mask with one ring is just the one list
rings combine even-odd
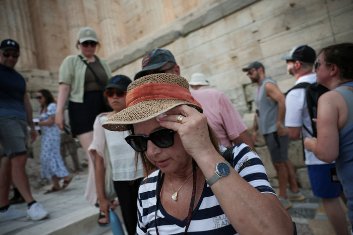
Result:
{"label": "woman in light cap, open pale green shirt and black shorts", "polygon": [[99,42],[92,28],[82,28],[78,34],[76,47],[80,55],[70,55],[62,63],[59,71],[59,93],[55,123],[64,128],[64,111],[69,99],[69,117],[73,137],[77,137],[87,152],[93,139],[94,119],[106,111],[102,89],[106,86],[111,71],[107,63],[96,56]]}

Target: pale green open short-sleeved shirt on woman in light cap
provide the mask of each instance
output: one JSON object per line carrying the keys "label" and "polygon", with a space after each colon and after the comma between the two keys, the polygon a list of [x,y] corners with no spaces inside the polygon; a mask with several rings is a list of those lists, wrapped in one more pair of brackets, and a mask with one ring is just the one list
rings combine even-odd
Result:
{"label": "pale green open short-sleeved shirt on woman in light cap", "polygon": [[[83,55],[83,60],[88,59]],[[108,79],[112,77],[111,70],[104,59],[97,56],[99,62],[103,66]],[[69,100],[71,102],[83,103],[83,95],[85,93],[85,74],[87,65],[77,55],[69,55],[66,57],[60,66],[59,70],[59,83],[64,83],[71,86]]]}

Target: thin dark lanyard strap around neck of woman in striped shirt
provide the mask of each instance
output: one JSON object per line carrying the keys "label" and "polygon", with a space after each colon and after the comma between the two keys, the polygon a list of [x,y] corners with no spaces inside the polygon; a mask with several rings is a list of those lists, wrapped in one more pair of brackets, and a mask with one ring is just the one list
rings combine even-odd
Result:
{"label": "thin dark lanyard strap around neck of woman in striped shirt", "polygon": [[[160,191],[162,189],[163,181],[164,181],[164,173],[162,173],[162,177],[161,177],[159,185],[158,185],[157,202],[156,202],[156,209],[155,209],[155,213],[154,213],[154,223],[156,225],[156,233],[157,233],[157,235],[159,235],[158,227],[157,227],[157,206],[158,206],[158,202],[159,202],[159,195],[160,195]],[[192,217],[192,213],[193,213],[193,210],[194,210],[194,204],[195,204],[195,195],[196,195],[196,162],[193,160],[193,193],[191,195],[191,201],[190,201],[190,207],[189,207],[189,213],[188,213],[188,220],[186,222],[186,227],[185,227],[184,234],[187,234],[189,226],[190,226],[191,217]]]}

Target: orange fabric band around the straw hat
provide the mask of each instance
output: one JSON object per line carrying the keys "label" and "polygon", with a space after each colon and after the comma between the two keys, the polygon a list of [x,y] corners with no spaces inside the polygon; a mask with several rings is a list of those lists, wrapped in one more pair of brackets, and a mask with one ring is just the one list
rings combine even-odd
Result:
{"label": "orange fabric band around the straw hat", "polygon": [[167,83],[150,83],[131,90],[126,96],[126,107],[148,100],[184,100],[201,107],[188,89]]}

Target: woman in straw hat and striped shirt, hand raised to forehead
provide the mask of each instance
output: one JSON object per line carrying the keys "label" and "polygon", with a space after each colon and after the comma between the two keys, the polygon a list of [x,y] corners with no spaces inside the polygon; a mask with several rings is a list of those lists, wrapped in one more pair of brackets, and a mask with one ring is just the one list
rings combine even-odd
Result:
{"label": "woman in straw hat and striped shirt, hand raised to forehead", "polygon": [[232,166],[225,163],[225,147],[183,77],[141,77],[126,102],[103,127],[130,130],[126,140],[144,168],[159,168],[141,183],[137,234],[293,234],[259,156],[239,143]]}

